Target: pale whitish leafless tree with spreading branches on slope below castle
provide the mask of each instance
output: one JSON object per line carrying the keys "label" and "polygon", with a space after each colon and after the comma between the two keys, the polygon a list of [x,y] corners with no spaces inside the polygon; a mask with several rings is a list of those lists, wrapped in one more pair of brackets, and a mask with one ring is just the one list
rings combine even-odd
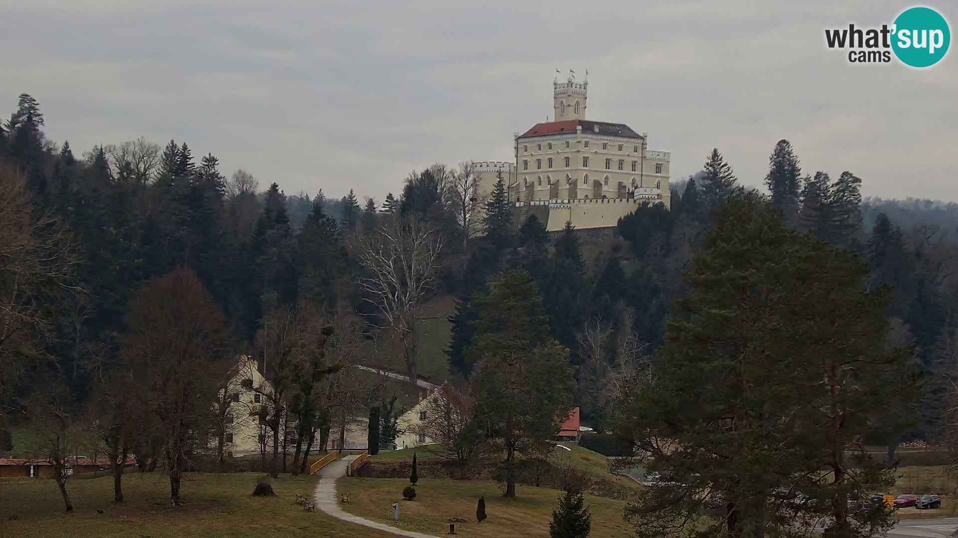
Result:
{"label": "pale whitish leafless tree with spreading branches on slope below castle", "polygon": [[416,315],[439,274],[443,237],[415,219],[393,219],[362,238],[358,260],[365,300],[392,328],[402,347],[409,382],[416,383]]}

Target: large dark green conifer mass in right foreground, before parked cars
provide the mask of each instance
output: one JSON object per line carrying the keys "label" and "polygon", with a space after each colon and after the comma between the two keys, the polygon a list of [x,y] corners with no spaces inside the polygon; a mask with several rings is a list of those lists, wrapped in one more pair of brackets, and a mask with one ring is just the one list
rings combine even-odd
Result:
{"label": "large dark green conifer mass in right foreground, before parked cars", "polygon": [[[889,528],[890,509],[847,503],[894,482],[859,439],[914,401],[908,353],[876,346],[885,298],[865,291],[854,254],[789,230],[761,197],[715,217],[656,352],[655,384],[622,406],[650,470],[681,485],[651,488],[627,519],[638,536],[788,534],[822,512],[842,537]],[[784,503],[779,488],[808,502]],[[686,527],[711,502],[722,516]]]}

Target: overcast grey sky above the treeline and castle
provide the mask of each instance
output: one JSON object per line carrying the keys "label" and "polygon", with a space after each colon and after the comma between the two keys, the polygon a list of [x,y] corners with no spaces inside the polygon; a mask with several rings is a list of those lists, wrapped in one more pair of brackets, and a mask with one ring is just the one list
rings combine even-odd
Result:
{"label": "overcast grey sky above the treeline and castle", "polygon": [[[955,31],[958,4],[924,5]],[[513,161],[513,134],[553,112],[556,69],[588,69],[587,118],[648,132],[673,180],[718,147],[761,186],[786,138],[804,172],[853,171],[866,196],[958,201],[958,52],[917,70],[825,45],[910,6],[0,0],[0,113],[29,93],[78,152],[175,139],[262,189],[381,202],[435,162]]]}

